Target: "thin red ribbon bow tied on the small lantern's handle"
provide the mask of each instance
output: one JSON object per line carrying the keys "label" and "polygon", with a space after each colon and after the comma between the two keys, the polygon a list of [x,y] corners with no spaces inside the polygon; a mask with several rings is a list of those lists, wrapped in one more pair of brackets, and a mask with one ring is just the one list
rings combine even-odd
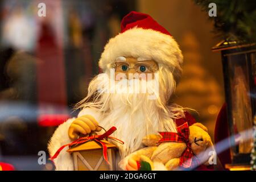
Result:
{"label": "thin red ribbon bow tied on the small lantern's handle", "polygon": [[106,146],[106,144],[104,142],[101,142],[101,140],[104,139],[104,138],[109,138],[109,139],[116,140],[117,142],[123,144],[124,142],[122,140],[119,140],[119,139],[114,138],[114,137],[109,137],[109,135],[114,133],[115,130],[117,130],[117,128],[113,126],[113,127],[111,127],[108,131],[106,131],[102,135],[93,135],[93,136],[89,136],[89,137],[82,137],[82,138],[79,138],[79,139],[77,139],[77,140],[75,140],[75,141],[73,141],[71,143],[64,144],[64,146],[61,146],[50,159],[53,160],[53,159],[57,158],[57,156],[60,154],[60,151],[63,150],[63,148],[65,148],[67,146],[73,146],[75,144],[81,144],[81,143],[85,143],[85,142],[94,140],[94,141],[96,141],[96,142],[101,144],[101,146],[103,148],[104,159],[109,164],[108,155],[107,155],[108,147]]}

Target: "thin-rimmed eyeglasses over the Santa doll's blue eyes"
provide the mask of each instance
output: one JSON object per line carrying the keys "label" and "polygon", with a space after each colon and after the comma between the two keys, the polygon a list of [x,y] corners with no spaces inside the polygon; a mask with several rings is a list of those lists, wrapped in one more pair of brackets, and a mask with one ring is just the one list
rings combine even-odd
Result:
{"label": "thin-rimmed eyeglasses over the Santa doll's blue eyes", "polygon": [[134,67],[130,67],[130,64],[126,61],[115,61],[112,67],[115,68],[115,72],[129,72],[130,69],[135,69],[138,73],[154,73],[158,71],[156,64],[152,65],[146,61],[138,62]]}

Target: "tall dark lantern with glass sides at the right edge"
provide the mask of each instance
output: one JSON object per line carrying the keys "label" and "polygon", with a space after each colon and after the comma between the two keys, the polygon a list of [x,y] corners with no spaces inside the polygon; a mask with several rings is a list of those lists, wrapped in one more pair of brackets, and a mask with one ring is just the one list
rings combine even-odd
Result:
{"label": "tall dark lantern with glass sides at the right edge", "polygon": [[229,169],[249,169],[255,114],[255,44],[223,41],[212,48],[221,51],[227,104],[230,152]]}

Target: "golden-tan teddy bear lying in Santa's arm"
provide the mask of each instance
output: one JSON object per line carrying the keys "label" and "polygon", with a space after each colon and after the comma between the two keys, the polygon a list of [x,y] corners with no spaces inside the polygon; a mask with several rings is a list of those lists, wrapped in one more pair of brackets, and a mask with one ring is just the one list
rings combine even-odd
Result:
{"label": "golden-tan teddy bear lying in Santa's arm", "polygon": [[[150,164],[152,170],[176,170],[180,169],[181,155],[184,154],[185,150],[188,150],[189,146],[192,154],[196,156],[199,165],[205,164],[208,166],[208,159],[213,158],[213,156],[209,156],[209,151],[214,151],[214,147],[207,127],[201,123],[194,123],[187,127],[189,131],[187,138],[188,143],[159,142],[163,138],[162,135],[150,134],[142,139],[142,143],[146,147],[131,153],[123,160],[126,160],[125,162],[127,163],[128,159],[133,156],[137,162],[143,161]],[[213,154],[215,153],[213,152]],[[137,164],[131,165],[134,166]],[[162,167],[159,168],[159,166],[161,166],[159,164],[162,164]]]}

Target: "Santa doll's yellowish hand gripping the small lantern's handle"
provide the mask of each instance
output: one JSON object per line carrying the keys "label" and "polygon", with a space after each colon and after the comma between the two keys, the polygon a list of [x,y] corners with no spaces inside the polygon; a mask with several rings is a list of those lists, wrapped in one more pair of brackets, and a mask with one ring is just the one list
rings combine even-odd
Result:
{"label": "Santa doll's yellowish hand gripping the small lantern's handle", "polygon": [[71,123],[68,129],[68,136],[72,140],[75,140],[80,134],[86,135],[91,131],[101,131],[101,127],[98,127],[98,122],[92,115],[82,115]]}

